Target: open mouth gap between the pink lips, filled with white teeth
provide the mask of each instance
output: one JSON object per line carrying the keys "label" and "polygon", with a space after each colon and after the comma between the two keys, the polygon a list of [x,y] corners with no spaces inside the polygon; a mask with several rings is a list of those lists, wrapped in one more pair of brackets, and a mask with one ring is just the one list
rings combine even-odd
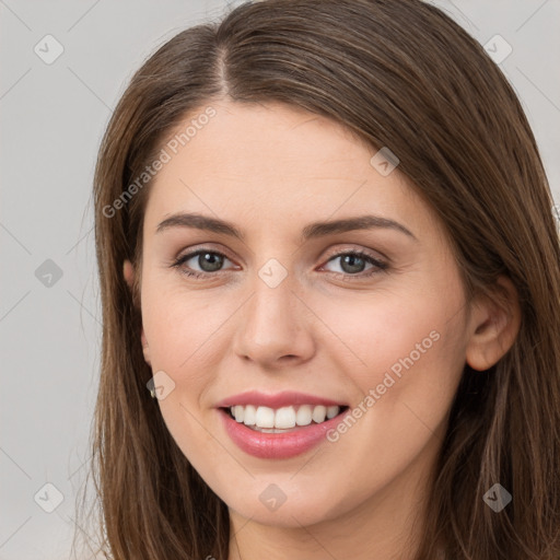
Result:
{"label": "open mouth gap between the pink lips, filled with white teeth", "polygon": [[264,433],[285,433],[322,424],[348,410],[347,406],[298,405],[270,408],[254,405],[236,405],[221,408],[236,422]]}

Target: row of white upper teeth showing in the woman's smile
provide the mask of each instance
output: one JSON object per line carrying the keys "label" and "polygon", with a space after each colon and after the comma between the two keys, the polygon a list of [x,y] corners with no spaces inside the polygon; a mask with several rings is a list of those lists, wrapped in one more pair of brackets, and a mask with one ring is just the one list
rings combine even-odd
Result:
{"label": "row of white upper teeth showing in the woman's smile", "polygon": [[[295,410],[298,408],[298,410]],[[253,405],[236,405],[230,408],[237,422],[256,428],[288,429],[295,425],[308,425],[312,420],[316,423],[325,421],[325,418],[335,418],[340,412],[340,407],[325,407],[323,405],[301,405],[300,407],[282,407],[278,409],[269,407],[255,407]]]}

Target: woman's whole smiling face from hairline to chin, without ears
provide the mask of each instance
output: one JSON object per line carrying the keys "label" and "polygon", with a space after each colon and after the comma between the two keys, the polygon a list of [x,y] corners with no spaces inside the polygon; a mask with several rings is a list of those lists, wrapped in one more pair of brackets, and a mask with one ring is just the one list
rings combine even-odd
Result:
{"label": "woman's whole smiling face from hairline to chin, without ears", "polygon": [[330,120],[212,108],[184,147],[164,147],[145,209],[143,339],[172,436],[257,522],[410,502],[468,342],[439,221],[386,152]]}

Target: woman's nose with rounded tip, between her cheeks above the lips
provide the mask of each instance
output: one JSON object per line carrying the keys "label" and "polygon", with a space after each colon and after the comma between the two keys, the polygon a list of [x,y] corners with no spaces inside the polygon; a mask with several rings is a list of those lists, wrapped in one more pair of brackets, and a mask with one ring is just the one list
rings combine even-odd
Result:
{"label": "woman's nose with rounded tip, between her cheeks above the lips", "polygon": [[313,357],[313,313],[293,288],[290,275],[275,288],[256,276],[253,295],[237,314],[233,350],[242,360],[273,370]]}

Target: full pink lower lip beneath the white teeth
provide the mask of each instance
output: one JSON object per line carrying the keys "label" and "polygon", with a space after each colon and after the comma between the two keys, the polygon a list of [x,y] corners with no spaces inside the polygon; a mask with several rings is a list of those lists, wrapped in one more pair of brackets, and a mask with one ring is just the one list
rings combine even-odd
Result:
{"label": "full pink lower lip beneath the white teeth", "polygon": [[225,431],[242,451],[262,459],[287,459],[301,455],[325,441],[327,432],[341,422],[349,409],[320,424],[299,427],[283,433],[257,432],[234,420],[225,410],[218,411]]}

